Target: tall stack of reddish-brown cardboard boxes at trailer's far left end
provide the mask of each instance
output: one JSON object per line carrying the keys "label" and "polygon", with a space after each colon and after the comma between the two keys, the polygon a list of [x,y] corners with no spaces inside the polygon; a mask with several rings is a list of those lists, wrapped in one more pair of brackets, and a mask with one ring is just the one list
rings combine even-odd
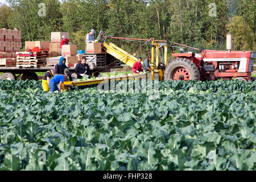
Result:
{"label": "tall stack of reddish-brown cardboard boxes at trailer's far left end", "polygon": [[0,65],[7,67],[16,65],[15,52],[20,51],[20,48],[22,48],[20,36],[20,31],[17,29],[0,29]]}

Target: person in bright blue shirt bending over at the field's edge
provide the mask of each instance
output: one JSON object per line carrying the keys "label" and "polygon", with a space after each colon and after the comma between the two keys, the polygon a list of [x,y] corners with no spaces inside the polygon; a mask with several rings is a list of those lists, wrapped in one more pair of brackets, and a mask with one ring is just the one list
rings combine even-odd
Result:
{"label": "person in bright blue shirt bending over at the field's edge", "polygon": [[56,90],[58,90],[60,92],[61,84],[63,84],[64,81],[68,80],[68,74],[69,74],[68,68],[64,69],[64,74],[65,75],[55,75],[51,78],[51,80],[49,81],[49,91],[50,92],[55,92]]}

